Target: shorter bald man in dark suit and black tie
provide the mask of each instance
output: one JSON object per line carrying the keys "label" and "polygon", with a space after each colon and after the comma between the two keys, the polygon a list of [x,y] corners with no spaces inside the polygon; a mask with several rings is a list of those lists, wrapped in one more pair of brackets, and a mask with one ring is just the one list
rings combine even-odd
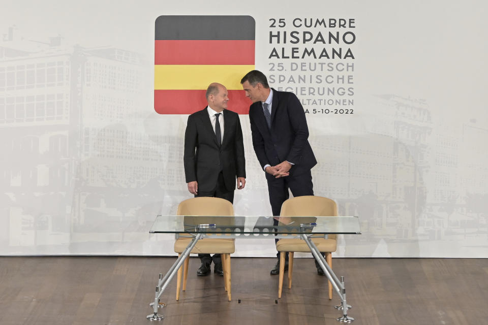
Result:
{"label": "shorter bald man in dark suit and black tie", "polygon": [[[227,110],[227,89],[212,83],[206,92],[208,106],[188,117],[185,131],[185,178],[195,197],[216,197],[233,203],[234,190],[246,185],[246,160],[237,113]],[[214,272],[223,276],[220,254],[198,254],[197,275]]]}

